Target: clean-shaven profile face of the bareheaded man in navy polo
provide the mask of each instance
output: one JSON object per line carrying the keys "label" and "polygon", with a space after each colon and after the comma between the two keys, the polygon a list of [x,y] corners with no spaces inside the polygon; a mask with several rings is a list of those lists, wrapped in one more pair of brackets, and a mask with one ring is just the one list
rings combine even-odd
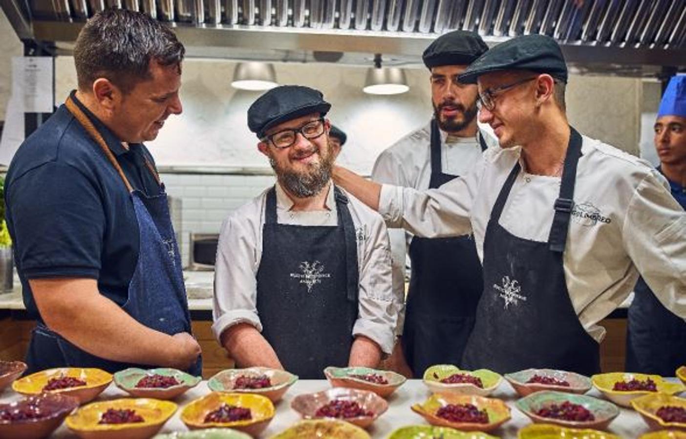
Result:
{"label": "clean-shaven profile face of the bareheaded man in navy polo", "polygon": [[171,114],[181,114],[179,99],[181,68],[150,62],[152,77],[139,81],[121,97],[113,112],[113,125],[121,140],[145,142],[154,140]]}

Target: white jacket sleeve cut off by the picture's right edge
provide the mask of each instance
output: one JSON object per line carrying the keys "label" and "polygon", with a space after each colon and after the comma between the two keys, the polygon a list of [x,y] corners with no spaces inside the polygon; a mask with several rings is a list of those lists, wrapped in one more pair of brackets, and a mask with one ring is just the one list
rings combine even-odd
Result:
{"label": "white jacket sleeve cut off by the picture's right edge", "polygon": [[622,235],[629,257],[657,299],[686,318],[686,213],[657,171],[637,186]]}

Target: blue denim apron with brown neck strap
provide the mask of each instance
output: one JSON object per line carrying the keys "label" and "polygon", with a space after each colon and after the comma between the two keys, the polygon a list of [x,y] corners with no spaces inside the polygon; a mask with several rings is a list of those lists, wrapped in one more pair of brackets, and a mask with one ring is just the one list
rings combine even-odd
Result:
{"label": "blue denim apron with brown neck strap", "polygon": [[[78,105],[73,103],[71,97],[67,99],[65,105],[102,148],[131,195],[138,221],[140,251],[123,310],[141,325],[155,331],[169,335],[179,332],[191,334],[191,316],[183,283],[181,260],[174,229],[171,227],[164,185],[161,184],[152,164],[146,160],[145,165],[161,185],[161,193],[148,197],[140,190],[133,189],[117,163],[117,159],[93,123],[78,108]],[[122,230],[121,233],[128,233],[128,231]],[[154,366],[152,364],[126,364],[91,355],[48,329],[42,322],[39,322],[32,332],[27,352],[27,364],[28,373],[64,366],[96,367],[110,373],[128,367]],[[187,372],[191,375],[201,375],[202,359],[198,358],[196,364]]]}

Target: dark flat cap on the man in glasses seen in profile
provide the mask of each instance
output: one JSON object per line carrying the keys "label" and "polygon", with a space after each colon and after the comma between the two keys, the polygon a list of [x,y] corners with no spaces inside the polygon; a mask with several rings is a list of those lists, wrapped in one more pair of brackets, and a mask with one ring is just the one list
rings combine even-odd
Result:
{"label": "dark flat cap on the man in glasses seen in profile", "polygon": [[530,70],[547,73],[567,82],[567,64],[558,43],[549,36],[533,34],[512,38],[492,47],[458,77],[464,84],[476,84],[484,73]]}

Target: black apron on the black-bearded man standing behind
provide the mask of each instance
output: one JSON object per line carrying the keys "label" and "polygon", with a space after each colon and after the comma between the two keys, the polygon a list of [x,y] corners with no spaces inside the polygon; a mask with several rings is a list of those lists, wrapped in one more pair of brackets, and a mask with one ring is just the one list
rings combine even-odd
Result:
{"label": "black apron on the black-bearded man standing behind", "polygon": [[[482,150],[486,149],[482,136],[479,139]],[[432,189],[458,177],[442,172],[436,119],[431,121],[430,148]],[[414,236],[409,253],[412,273],[402,342],[407,365],[415,378],[421,378],[434,364],[460,366],[464,345],[474,327],[484,278],[472,236]]]}

